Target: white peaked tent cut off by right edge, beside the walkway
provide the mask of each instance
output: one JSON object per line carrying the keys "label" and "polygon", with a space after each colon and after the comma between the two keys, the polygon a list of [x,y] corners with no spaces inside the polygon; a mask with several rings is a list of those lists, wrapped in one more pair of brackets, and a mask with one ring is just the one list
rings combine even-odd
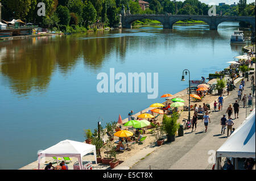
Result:
{"label": "white peaked tent cut off by right edge, beside the walkway", "polygon": [[255,108],[216,151],[216,169],[220,169],[221,157],[235,158],[235,168],[237,158],[255,158]]}

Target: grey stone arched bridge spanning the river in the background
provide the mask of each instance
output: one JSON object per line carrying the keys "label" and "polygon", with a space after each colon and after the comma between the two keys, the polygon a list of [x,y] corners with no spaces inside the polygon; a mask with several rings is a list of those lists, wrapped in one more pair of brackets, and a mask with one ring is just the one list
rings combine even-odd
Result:
{"label": "grey stone arched bridge spanning the river in the background", "polygon": [[255,16],[208,16],[208,15],[170,15],[170,14],[128,14],[122,12],[122,28],[131,28],[131,23],[135,20],[153,19],[163,24],[164,29],[172,29],[175,22],[179,20],[201,20],[207,23],[210,30],[217,30],[218,24],[222,22],[247,22],[255,30]]}

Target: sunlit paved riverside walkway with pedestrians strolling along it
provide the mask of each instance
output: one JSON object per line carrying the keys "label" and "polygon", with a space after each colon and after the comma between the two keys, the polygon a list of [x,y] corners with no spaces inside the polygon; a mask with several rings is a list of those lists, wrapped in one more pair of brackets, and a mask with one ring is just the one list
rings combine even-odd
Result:
{"label": "sunlit paved riverside walkway with pedestrians strolling along it", "polygon": [[[241,81],[241,78],[239,78],[239,81]],[[237,83],[237,87],[239,83],[240,82]],[[150,155],[131,167],[131,170],[212,169],[213,164],[208,162],[208,158],[210,157],[208,152],[210,150],[216,151],[227,139],[226,133],[221,134],[220,119],[225,114],[229,104],[233,104],[237,99],[237,90],[238,89],[230,91],[229,96],[225,96],[222,111],[210,113],[211,123],[208,125],[207,133],[204,132],[205,128],[203,121],[199,120],[197,122],[196,131],[191,133],[191,129],[188,129],[185,131],[184,136],[176,137],[175,142],[164,144],[159,149],[155,149]],[[246,82],[243,94],[250,92],[250,82]],[[240,114],[239,118],[234,120],[234,128],[238,128],[246,117],[246,109],[242,108],[242,102],[239,102],[239,104]],[[213,108],[212,105],[211,108]],[[234,117],[234,115],[232,116]],[[214,151],[212,151],[211,154]]]}

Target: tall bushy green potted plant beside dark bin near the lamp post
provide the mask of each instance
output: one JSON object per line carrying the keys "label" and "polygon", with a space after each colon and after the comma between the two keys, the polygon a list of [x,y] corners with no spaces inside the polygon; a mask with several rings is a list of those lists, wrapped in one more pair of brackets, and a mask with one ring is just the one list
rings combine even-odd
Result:
{"label": "tall bushy green potted plant beside dark bin near the lamp post", "polygon": [[179,124],[177,124],[177,119],[179,119],[178,113],[173,113],[171,117],[166,115],[163,116],[163,131],[167,134],[167,141],[175,141],[175,133],[179,128]]}

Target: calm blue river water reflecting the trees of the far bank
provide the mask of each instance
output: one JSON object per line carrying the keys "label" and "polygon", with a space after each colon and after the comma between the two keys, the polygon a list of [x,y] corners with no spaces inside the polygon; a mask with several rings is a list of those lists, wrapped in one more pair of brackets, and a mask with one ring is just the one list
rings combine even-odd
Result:
{"label": "calm blue river water reflecting the trees of the far bank", "polygon": [[[84,141],[94,129],[139,112],[161,95],[185,89],[191,79],[226,68],[241,54],[230,45],[238,23],[218,31],[207,25],[161,26],[97,31],[85,35],[44,36],[0,43],[0,169],[18,169],[35,161],[38,150],[62,140]],[[147,92],[100,93],[97,75],[158,73],[158,98]],[[188,80],[188,76],[186,76]]]}

